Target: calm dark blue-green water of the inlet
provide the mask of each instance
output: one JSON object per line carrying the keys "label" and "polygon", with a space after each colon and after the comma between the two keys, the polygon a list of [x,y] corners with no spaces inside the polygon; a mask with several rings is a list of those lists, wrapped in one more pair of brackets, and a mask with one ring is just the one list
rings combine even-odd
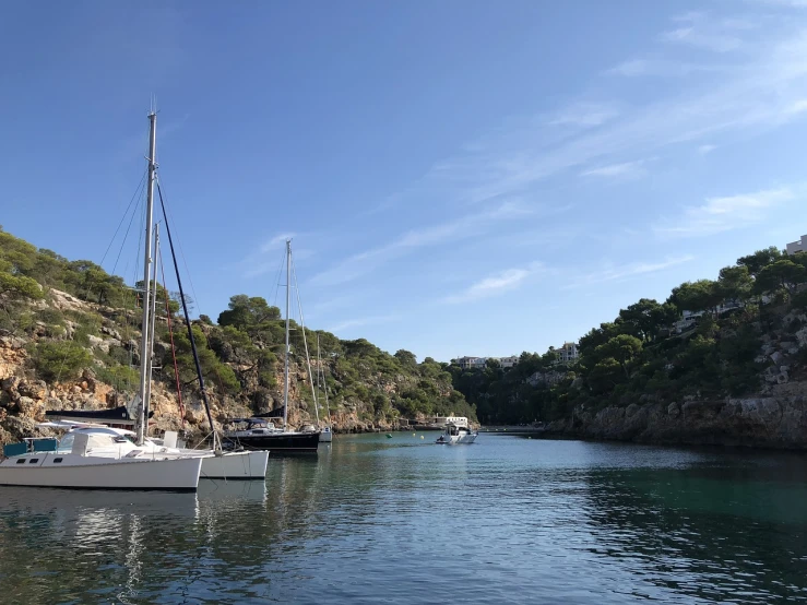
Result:
{"label": "calm dark blue-green water of the inlet", "polygon": [[807,602],[805,455],[435,437],[198,495],[0,488],[0,602]]}

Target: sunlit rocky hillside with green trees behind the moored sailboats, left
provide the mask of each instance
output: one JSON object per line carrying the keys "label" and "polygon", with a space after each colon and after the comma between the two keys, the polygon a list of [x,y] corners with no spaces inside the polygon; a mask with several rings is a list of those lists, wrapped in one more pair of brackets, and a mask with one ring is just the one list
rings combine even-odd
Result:
{"label": "sunlit rocky hillside with green trees behind the moored sailboats, left", "polygon": [[[157,290],[157,425],[180,425],[178,383],[193,428],[203,425],[204,415],[185,318],[178,296],[162,285]],[[0,440],[32,430],[46,410],[130,401],[138,384],[141,304],[135,289],[97,264],[70,261],[0,228]],[[191,323],[217,420],[282,407],[285,330],[277,307],[241,294],[230,298],[215,322],[202,315]],[[337,430],[390,428],[399,418],[449,413],[476,419],[444,364],[429,357],[418,363],[403,349],[391,355],[364,339],[344,341],[296,323],[293,328],[292,424],[315,417],[305,353],[307,345],[316,357],[318,337]]]}

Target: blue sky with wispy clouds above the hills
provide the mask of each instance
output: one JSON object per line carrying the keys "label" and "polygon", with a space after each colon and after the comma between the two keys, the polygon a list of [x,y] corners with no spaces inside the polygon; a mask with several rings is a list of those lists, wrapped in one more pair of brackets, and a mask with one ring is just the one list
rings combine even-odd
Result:
{"label": "blue sky with wispy clouds above the hills", "polygon": [[805,0],[0,11],[0,224],[100,262],[155,94],[214,318],[275,300],[293,235],[312,328],[418,358],[543,352],[807,233]]}

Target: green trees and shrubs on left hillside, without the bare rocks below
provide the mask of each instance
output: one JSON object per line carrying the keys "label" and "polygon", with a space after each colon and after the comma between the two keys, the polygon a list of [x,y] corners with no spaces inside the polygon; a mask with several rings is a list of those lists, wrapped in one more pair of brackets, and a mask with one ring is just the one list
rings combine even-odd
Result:
{"label": "green trees and shrubs on left hillside, without the bare rocks below", "polygon": [[[180,387],[194,390],[195,368],[187,324],[178,315],[178,297],[170,297],[162,285],[157,290],[155,365],[162,369],[155,377],[176,390],[167,328],[170,319]],[[86,305],[57,305],[59,292]],[[52,383],[73,379],[90,368],[117,389],[133,390],[138,382],[132,366],[139,361],[139,304],[134,289],[100,266],[37,249],[0,228],[0,334],[27,340],[28,371],[37,378]],[[319,337],[332,412],[347,413],[367,425],[420,414],[455,413],[476,418],[474,407],[453,389],[444,364],[431,358],[418,364],[407,351],[390,355],[364,339],[343,341],[330,332],[304,331],[295,322],[292,327],[293,391],[311,415],[313,393],[304,361],[306,346],[316,357]],[[261,297],[236,295],[216,323],[200,316],[192,330],[206,388],[214,399],[236,402],[253,412],[278,407],[285,324],[277,307]]]}

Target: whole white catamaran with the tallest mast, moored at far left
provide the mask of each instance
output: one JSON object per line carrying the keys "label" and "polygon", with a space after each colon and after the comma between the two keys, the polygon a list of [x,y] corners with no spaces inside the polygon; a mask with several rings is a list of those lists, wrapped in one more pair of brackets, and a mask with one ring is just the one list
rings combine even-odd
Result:
{"label": "whole white catamaran with the tallest mast, moored at far left", "polygon": [[[200,475],[206,478],[232,479],[265,477],[268,452],[224,453],[221,444],[216,447],[221,442],[216,441],[215,431],[213,450],[186,450],[171,447],[176,442],[176,434],[167,436],[166,441],[173,440],[173,442],[162,444],[150,440],[146,436],[154,345],[154,315],[150,318],[150,311],[154,313],[153,307],[156,302],[155,292],[155,301],[150,309],[149,293],[153,262],[152,222],[156,176],[156,112],[152,111],[149,119],[151,129],[145,225],[145,296],[143,298],[140,392],[134,414],[137,431],[109,428],[103,425],[83,425],[68,432],[61,443],[56,439],[26,439],[23,443],[7,446],[3,449],[7,458],[0,462],[0,485],[194,491]],[[170,230],[168,235],[170,237]],[[154,238],[154,250],[156,258],[157,238]],[[154,283],[156,284],[156,262],[154,262]],[[187,309],[186,317],[188,317]],[[190,324],[188,328],[190,330]],[[207,418],[213,427],[203,382],[201,388],[207,408]]]}

